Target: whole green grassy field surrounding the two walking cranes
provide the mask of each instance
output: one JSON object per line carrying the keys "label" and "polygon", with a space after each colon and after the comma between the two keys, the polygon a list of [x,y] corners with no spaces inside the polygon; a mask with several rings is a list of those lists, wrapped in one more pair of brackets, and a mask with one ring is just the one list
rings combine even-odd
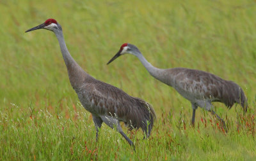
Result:
{"label": "whole green grassy field surrounding the two walking cranes", "polygon": [[[0,160],[255,160],[256,1],[0,0]],[[56,36],[24,33],[55,18],[68,49],[95,78],[150,102],[157,123],[150,139],[129,132],[136,151],[92,116],[70,86]],[[214,103],[229,132],[126,55],[106,66],[122,43],[154,66],[188,67],[239,84],[249,110]],[[125,129],[127,133],[127,130]]]}

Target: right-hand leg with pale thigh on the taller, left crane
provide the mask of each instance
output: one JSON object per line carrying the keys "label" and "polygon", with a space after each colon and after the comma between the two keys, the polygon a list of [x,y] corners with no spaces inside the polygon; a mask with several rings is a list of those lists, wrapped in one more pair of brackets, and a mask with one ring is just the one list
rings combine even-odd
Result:
{"label": "right-hand leg with pale thigh on the taller, left crane", "polygon": [[104,123],[106,123],[109,127],[111,127],[112,129],[114,129],[114,127],[116,127],[116,130],[125,138],[125,140],[132,146],[132,148],[135,150],[135,146],[132,143],[131,139],[129,137],[127,137],[123,130],[122,127],[119,123],[119,121],[112,116],[100,116],[100,118],[102,119],[102,121]]}

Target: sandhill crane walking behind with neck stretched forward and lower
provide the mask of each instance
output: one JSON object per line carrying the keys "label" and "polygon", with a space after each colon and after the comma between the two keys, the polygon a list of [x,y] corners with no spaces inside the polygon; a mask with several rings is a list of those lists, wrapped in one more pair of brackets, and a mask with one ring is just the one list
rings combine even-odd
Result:
{"label": "sandhill crane walking behind with neck stretched forward and lower", "polygon": [[129,43],[124,43],[118,53],[109,60],[108,64],[125,53],[130,53],[138,57],[151,76],[175,88],[180,95],[191,102],[193,109],[191,122],[193,126],[195,126],[195,111],[199,106],[207,111],[211,111],[212,115],[216,115],[227,131],[225,122],[214,112],[214,106],[212,106],[211,102],[223,102],[228,109],[230,109],[234,103],[239,103],[243,107],[244,113],[247,110],[247,99],[244,92],[242,88],[233,81],[223,80],[214,74],[195,69],[182,67],[159,69],[152,66],[135,45]]}

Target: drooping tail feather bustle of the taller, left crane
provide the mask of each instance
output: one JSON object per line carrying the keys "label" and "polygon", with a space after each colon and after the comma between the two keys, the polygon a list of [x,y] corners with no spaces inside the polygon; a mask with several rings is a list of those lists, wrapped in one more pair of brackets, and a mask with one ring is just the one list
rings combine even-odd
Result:
{"label": "drooping tail feather bustle of the taller, left crane", "polygon": [[148,102],[137,97],[134,97],[134,99],[136,99],[138,111],[140,111],[139,119],[136,123],[127,123],[127,125],[129,126],[129,130],[141,128],[146,137],[149,137],[156,121],[156,113]]}

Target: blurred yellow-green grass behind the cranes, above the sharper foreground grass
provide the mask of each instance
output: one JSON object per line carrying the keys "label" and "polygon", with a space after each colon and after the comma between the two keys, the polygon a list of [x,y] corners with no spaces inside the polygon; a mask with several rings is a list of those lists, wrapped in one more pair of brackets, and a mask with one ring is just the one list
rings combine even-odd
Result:
{"label": "blurred yellow-green grass behind the cranes, above the sharper foreground grass", "polygon": [[[46,30],[24,33],[47,18],[62,25],[69,52],[87,73],[150,102],[159,118],[163,109],[179,118],[183,107],[189,122],[191,104],[132,55],[106,66],[123,43],[138,46],[156,67],[200,69],[235,81],[255,111],[255,15],[252,0],[0,0],[0,111],[15,118],[15,106],[24,113],[32,106],[53,107],[52,113],[65,115],[77,104],[56,36]],[[236,118],[234,109],[214,105],[221,116]],[[197,110],[196,122],[203,114]]]}

